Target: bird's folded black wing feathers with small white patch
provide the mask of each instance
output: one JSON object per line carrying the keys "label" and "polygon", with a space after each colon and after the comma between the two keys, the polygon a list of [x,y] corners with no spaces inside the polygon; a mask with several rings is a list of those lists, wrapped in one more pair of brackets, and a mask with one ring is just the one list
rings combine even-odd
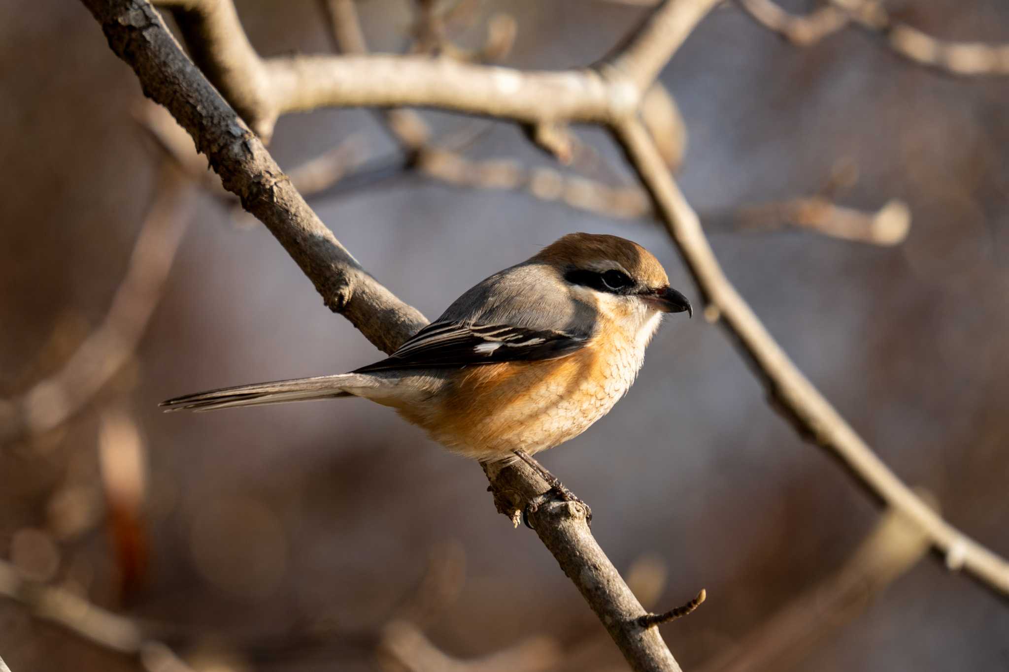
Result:
{"label": "bird's folded black wing feathers with small white patch", "polygon": [[587,341],[588,334],[553,329],[434,322],[418,331],[387,359],[352,373],[556,360],[584,347]]}

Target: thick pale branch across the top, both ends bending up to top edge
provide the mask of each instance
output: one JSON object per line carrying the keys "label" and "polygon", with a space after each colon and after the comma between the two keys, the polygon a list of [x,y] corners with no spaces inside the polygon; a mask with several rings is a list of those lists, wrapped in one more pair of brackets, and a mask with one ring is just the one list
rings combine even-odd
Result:
{"label": "thick pale branch across the top, both ends bending up to top edge", "polygon": [[[438,107],[530,124],[606,123],[632,114],[659,70],[717,0],[664,3],[612,60],[623,76],[593,70],[524,72],[449,57],[299,55],[260,58],[230,0],[161,0],[185,10],[187,42],[202,40],[194,57],[228,100],[267,138],[276,117],[321,107]],[[338,16],[338,14],[333,14]],[[237,37],[236,35],[240,35]],[[352,46],[355,35],[341,35]],[[240,43],[231,43],[238,40]],[[359,43],[358,43],[359,45]],[[603,69],[612,74],[613,68]],[[611,81],[612,80],[612,81]]]}

